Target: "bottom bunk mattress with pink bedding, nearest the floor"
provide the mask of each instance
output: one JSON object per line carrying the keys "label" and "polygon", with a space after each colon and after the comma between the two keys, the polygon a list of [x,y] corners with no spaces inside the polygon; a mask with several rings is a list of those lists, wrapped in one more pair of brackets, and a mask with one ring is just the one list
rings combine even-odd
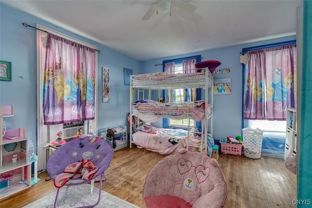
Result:
{"label": "bottom bunk mattress with pink bedding, nearest the floor", "polygon": [[[200,146],[200,139],[189,132],[189,145]],[[186,148],[188,131],[184,129],[157,128],[156,134],[137,131],[132,135],[132,141],[138,148],[158,152],[162,155],[176,153],[181,148]],[[197,148],[189,147],[189,151]]]}

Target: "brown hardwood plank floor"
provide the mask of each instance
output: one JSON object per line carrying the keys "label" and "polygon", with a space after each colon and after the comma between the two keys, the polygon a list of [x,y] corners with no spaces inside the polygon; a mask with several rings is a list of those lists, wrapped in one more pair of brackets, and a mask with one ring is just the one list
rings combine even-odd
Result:
{"label": "brown hardwood plank floor", "polygon": [[[145,208],[145,177],[163,157],[137,147],[114,152],[102,189]],[[283,159],[261,156],[254,160],[220,154],[218,162],[228,184],[224,208],[295,208],[292,200],[296,199],[296,176],[285,168]],[[56,190],[53,181],[45,181],[46,171],[38,175],[38,184],[1,199],[0,208],[21,208]]]}

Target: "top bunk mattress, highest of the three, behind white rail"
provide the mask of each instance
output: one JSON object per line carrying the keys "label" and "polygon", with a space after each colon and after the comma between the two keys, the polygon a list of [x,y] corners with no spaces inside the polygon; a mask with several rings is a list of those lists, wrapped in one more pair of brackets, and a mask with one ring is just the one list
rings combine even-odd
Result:
{"label": "top bunk mattress, highest of the three, behind white rail", "polygon": [[[212,74],[208,72],[208,83],[213,83]],[[205,83],[206,73],[191,74],[168,74],[166,72],[158,72],[154,74],[134,75],[132,86],[157,86],[157,85],[175,85],[185,83]]]}

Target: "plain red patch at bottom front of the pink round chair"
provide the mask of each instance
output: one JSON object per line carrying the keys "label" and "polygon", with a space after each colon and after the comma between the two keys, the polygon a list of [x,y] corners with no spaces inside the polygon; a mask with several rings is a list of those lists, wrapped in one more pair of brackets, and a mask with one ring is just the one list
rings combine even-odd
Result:
{"label": "plain red patch at bottom front of the pink round chair", "polygon": [[177,196],[148,196],[144,198],[147,208],[192,208],[192,206]]}

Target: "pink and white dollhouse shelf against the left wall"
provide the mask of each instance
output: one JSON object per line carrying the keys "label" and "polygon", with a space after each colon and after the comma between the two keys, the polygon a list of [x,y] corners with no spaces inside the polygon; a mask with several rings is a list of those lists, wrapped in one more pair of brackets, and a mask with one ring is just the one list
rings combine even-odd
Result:
{"label": "pink and white dollhouse shelf against the left wall", "polygon": [[0,106],[0,199],[32,185],[26,130],[6,129],[3,121],[4,117],[13,115],[13,105]]}

